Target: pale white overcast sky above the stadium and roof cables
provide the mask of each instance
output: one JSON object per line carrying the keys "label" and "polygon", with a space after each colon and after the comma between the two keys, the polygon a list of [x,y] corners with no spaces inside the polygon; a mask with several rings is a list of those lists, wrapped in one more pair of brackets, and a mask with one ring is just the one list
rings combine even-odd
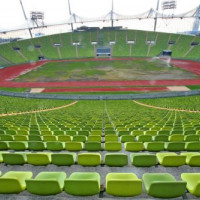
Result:
{"label": "pale white overcast sky above the stadium and roof cables", "polygon": [[[113,1],[114,11],[124,15],[140,14],[149,10],[150,8],[155,9],[157,5],[157,0]],[[162,1],[163,0],[160,0],[160,3],[162,3]],[[89,18],[95,18],[107,14],[111,10],[111,2],[112,0],[70,0],[72,13],[76,13],[79,16]],[[31,11],[44,12],[45,22],[47,23],[67,22],[70,17],[68,11],[68,0],[22,0],[22,3],[24,5],[24,9],[28,18],[30,18]],[[22,24],[25,24],[19,0],[0,0],[0,5],[0,32],[6,29],[13,29],[15,27],[17,28],[20,27]],[[198,5],[200,5],[200,0],[177,0],[177,9],[173,12],[184,13],[192,10]],[[161,6],[160,12],[163,12]],[[148,29],[147,23],[144,25],[147,26]],[[158,28],[163,24],[162,26],[166,26],[165,28],[162,28],[163,31],[165,31],[166,29],[166,31],[169,32],[170,23],[171,22],[160,22]],[[109,24],[105,24],[105,26],[108,25]],[[141,29],[144,26],[141,25],[141,23],[139,24],[138,22],[133,21],[120,22],[119,25],[136,29],[137,27],[138,29]],[[153,23],[149,25],[149,27],[152,28],[152,25]],[[179,26],[181,28],[183,25],[179,24]],[[188,29],[189,27],[191,27],[191,22],[186,20],[184,26],[185,27],[182,27],[182,29]],[[178,29],[178,26],[174,25],[173,29]]]}

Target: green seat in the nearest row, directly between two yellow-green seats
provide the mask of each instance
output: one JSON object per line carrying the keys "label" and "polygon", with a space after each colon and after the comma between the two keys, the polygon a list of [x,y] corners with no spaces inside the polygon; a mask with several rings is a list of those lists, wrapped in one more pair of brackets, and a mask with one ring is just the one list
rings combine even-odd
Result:
{"label": "green seat in the nearest row, directly between two yellow-green seats", "polygon": [[177,181],[168,173],[146,173],[142,181],[148,195],[156,198],[175,198],[184,195],[185,181]]}

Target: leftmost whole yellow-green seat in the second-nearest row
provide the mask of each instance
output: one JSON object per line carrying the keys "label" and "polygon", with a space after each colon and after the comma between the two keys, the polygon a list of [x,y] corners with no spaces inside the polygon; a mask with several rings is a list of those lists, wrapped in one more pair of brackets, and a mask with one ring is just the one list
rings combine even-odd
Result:
{"label": "leftmost whole yellow-green seat in the second-nearest row", "polygon": [[28,153],[27,162],[31,165],[48,165],[51,163],[51,153]]}

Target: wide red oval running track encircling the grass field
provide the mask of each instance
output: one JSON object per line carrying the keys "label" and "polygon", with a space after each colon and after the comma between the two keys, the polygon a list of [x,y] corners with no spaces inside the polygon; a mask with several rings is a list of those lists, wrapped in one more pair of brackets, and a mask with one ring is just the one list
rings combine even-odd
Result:
{"label": "wide red oval running track encircling the grass field", "polygon": [[[74,62],[74,61],[93,61],[93,60],[134,60],[141,58],[113,58],[113,59],[76,59],[76,60],[58,60],[58,61],[41,61],[37,63],[27,63],[16,65],[0,70],[0,87],[19,87],[19,88],[48,88],[48,87],[109,87],[109,86],[172,86],[172,85],[200,85],[200,79],[187,80],[157,80],[157,81],[68,81],[68,82],[14,82],[14,78],[21,74],[31,71],[46,62]],[[200,62],[188,60],[172,60],[172,64],[200,75]],[[118,90],[119,91],[119,90]]]}

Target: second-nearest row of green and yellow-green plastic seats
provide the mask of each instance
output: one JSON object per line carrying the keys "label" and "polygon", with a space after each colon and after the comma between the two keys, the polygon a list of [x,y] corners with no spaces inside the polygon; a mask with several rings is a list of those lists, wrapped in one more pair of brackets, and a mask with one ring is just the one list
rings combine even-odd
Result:
{"label": "second-nearest row of green and yellow-green plastic seats", "polygon": [[[54,164],[58,166],[70,166],[76,163],[82,166],[98,166],[105,164],[111,167],[122,167],[128,164],[128,155],[124,153],[106,153],[102,161],[100,153],[0,153],[0,162],[11,165],[48,165]],[[160,164],[165,167],[179,167],[182,165],[189,165],[200,167],[200,153],[199,152],[182,152],[176,154],[174,152],[166,153],[132,153],[130,154],[132,165],[136,167],[151,167]]]}

